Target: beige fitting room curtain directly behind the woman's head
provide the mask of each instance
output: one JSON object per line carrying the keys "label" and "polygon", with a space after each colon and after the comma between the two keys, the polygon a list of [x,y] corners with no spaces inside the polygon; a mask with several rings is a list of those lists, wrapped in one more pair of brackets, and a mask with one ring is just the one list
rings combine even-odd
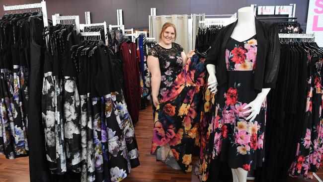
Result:
{"label": "beige fitting room curtain directly behind the woman's head", "polygon": [[155,37],[156,41],[159,42],[159,34],[161,32],[162,25],[165,22],[171,22],[176,27],[177,36],[175,42],[183,47],[186,54],[190,51],[187,14],[158,15],[150,17],[151,37]]}

